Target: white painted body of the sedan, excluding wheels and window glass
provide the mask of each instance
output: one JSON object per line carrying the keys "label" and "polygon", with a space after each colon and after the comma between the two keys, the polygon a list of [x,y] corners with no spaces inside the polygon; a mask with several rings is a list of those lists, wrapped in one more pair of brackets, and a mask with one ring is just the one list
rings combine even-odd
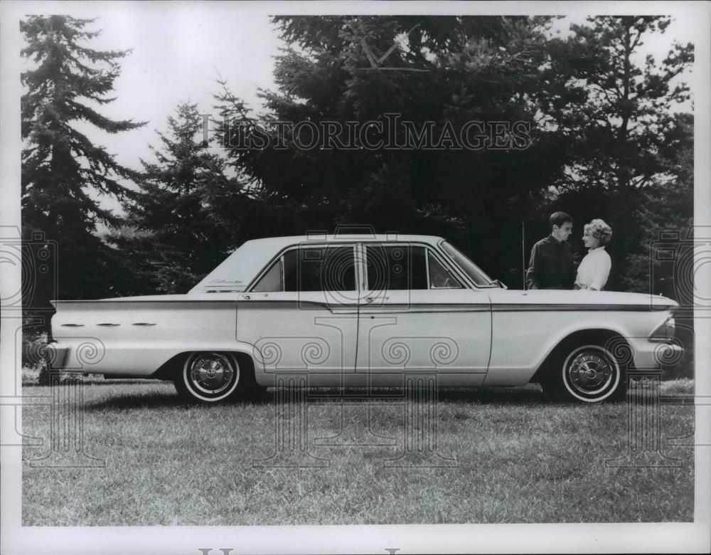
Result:
{"label": "white painted body of the sedan, excluding wheels and window glass", "polygon": [[[287,288],[287,251],[296,249],[290,256],[298,260],[308,254],[298,249],[350,252],[319,250],[332,247],[353,249],[353,290],[255,287],[269,270],[277,277],[272,265],[279,265]],[[375,264],[375,253],[390,247],[388,256],[411,253],[411,265],[416,252],[424,253],[429,288],[369,286],[377,268],[366,266],[368,253]],[[350,271],[344,260],[341,268]],[[451,278],[444,283],[461,287],[433,288],[435,260]],[[658,369],[670,352],[680,352],[671,337],[676,306],[638,293],[477,284],[439,237],[266,238],[247,241],[185,295],[55,301],[52,366],[107,378],[165,378],[181,356],[220,352],[250,357],[260,386],[289,373],[308,376],[309,386],[401,386],[404,374],[427,371],[441,386],[517,386],[535,379],[554,349],[576,334],[624,338],[634,368]]]}

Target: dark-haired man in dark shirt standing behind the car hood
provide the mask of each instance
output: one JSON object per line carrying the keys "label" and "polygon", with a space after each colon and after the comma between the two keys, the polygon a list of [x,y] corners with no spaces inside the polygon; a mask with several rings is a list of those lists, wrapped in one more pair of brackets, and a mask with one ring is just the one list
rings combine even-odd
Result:
{"label": "dark-haired man in dark shirt standing behind the car hood", "polygon": [[573,253],[567,238],[573,218],[565,212],[550,216],[551,233],[533,245],[526,272],[528,289],[572,289],[575,277]]}

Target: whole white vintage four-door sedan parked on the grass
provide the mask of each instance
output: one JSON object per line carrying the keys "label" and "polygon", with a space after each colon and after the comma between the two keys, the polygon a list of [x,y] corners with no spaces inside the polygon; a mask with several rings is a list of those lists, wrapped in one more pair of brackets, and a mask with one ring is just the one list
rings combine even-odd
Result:
{"label": "whole white vintage four-door sedan parked on the grass", "polygon": [[[185,295],[56,301],[53,369],[172,380],[218,403],[257,388],[542,385],[624,397],[680,359],[665,297],[508,290],[431,236],[250,240]],[[421,383],[421,382],[420,382]]]}

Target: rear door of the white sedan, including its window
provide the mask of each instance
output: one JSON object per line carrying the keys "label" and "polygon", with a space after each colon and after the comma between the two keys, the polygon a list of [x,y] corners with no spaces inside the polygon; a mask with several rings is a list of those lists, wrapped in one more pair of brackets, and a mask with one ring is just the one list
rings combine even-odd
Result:
{"label": "rear door of the white sedan, including its window", "polygon": [[309,374],[310,385],[355,372],[355,252],[353,244],[289,248],[241,295],[237,339],[257,347],[264,372]]}

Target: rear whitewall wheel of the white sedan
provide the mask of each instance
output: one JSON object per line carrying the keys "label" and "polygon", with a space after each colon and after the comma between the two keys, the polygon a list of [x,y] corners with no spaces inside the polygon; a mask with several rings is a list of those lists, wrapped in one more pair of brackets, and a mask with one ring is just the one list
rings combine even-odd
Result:
{"label": "rear whitewall wheel of the white sedan", "polygon": [[185,401],[218,403],[232,396],[240,384],[240,365],[230,354],[193,353],[175,381]]}

